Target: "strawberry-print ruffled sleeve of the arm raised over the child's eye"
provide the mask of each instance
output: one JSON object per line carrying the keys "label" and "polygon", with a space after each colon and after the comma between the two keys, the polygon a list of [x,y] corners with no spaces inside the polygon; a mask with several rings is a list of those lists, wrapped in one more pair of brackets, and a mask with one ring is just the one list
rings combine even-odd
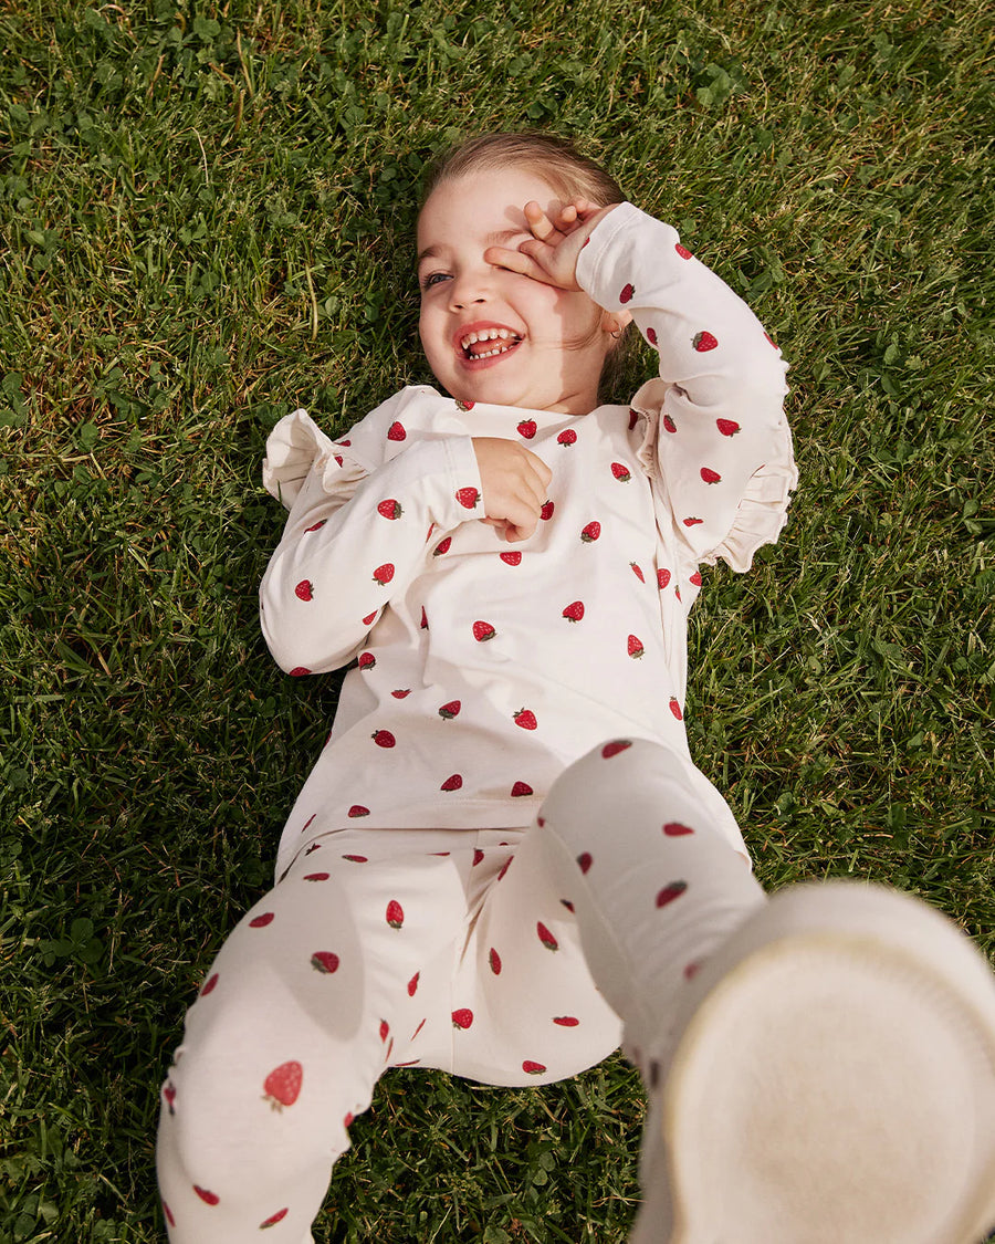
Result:
{"label": "strawberry-print ruffled sleeve of the arm raised over the child's eye", "polygon": [[632,406],[655,423],[648,466],[683,569],[721,557],[749,570],[780,535],[797,483],[780,350],[670,225],[631,203],[591,234],[577,280],[606,310],[628,311],[659,355],[659,379]]}

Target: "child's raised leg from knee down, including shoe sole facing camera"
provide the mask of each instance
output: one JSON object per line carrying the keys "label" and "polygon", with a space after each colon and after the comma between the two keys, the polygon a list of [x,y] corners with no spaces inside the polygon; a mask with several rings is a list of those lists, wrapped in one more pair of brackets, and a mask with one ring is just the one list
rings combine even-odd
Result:
{"label": "child's raised leg from knee down, including shoe sole facing camera", "polygon": [[699,779],[648,743],[597,749],[540,826],[649,1088],[633,1244],[974,1244],[995,1219],[988,964],[879,887],[766,902]]}

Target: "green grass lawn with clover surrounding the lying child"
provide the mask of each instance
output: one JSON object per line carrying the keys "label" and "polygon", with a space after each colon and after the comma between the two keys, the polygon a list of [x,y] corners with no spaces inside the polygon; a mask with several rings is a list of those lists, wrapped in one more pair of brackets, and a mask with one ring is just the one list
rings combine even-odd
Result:
{"label": "green grass lawn with clover surrounding the lying child", "polygon": [[[0,47],[1,1238],[160,1238],[158,1084],[336,702],[259,636],[262,445],[428,379],[414,184],[460,131],[578,138],[792,362],[790,525],[692,637],[760,880],[995,953],[983,6],[12,0]],[[622,1242],[642,1111],[619,1057],[394,1072],[316,1238]]]}

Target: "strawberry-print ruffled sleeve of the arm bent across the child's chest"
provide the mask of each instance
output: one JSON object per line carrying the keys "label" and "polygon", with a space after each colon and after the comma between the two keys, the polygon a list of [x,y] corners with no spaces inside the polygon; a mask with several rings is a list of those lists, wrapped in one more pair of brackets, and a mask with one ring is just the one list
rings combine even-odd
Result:
{"label": "strawberry-print ruffled sleeve of the arm bent across the child's chest", "polygon": [[403,398],[337,443],[303,411],[270,437],[264,480],[290,515],[262,577],[260,620],[289,673],[325,673],[352,659],[388,601],[424,567],[433,529],[484,516],[470,437],[413,437],[396,453],[407,438],[394,419]]}

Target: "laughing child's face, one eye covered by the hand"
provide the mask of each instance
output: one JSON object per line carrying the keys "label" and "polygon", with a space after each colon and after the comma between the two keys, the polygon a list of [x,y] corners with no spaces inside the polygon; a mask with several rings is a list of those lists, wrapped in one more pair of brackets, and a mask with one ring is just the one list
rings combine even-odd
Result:
{"label": "laughing child's face, one eye covered by the hand", "polygon": [[484,261],[532,234],[525,204],[560,200],[525,168],[442,182],[418,218],[419,333],[435,378],[463,402],[588,414],[612,338],[582,291],[545,285]]}

